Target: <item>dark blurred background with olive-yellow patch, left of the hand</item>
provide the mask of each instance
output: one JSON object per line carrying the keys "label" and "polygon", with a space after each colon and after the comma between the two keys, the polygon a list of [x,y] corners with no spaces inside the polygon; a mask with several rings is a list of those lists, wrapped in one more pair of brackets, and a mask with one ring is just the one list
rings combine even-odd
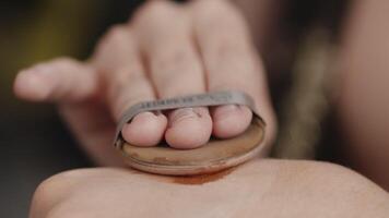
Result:
{"label": "dark blurred background with olive-yellow patch, left of the hand", "polygon": [[140,2],[0,1],[0,217],[27,217],[42,180],[90,166],[55,106],[15,99],[17,70],[58,56],[87,58],[105,29],[126,22]]}

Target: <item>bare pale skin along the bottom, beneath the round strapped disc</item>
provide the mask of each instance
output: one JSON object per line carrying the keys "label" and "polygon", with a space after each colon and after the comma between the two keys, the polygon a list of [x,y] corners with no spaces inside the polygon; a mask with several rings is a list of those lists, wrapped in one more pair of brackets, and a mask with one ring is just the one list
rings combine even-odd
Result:
{"label": "bare pale skin along the bottom, beneath the round strapped disc", "polygon": [[257,159],[203,184],[127,169],[81,169],[37,189],[31,218],[387,217],[389,195],[340,166]]}

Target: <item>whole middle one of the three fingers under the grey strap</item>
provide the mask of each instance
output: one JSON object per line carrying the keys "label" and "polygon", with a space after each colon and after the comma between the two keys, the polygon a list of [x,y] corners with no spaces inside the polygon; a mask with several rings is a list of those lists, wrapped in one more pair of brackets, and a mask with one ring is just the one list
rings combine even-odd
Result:
{"label": "whole middle one of the three fingers under the grey strap", "polygon": [[[180,7],[165,1],[152,2],[135,16],[133,24],[161,98],[205,92],[189,17]],[[168,113],[165,140],[175,148],[194,148],[207,143],[211,132],[208,108],[184,108]]]}

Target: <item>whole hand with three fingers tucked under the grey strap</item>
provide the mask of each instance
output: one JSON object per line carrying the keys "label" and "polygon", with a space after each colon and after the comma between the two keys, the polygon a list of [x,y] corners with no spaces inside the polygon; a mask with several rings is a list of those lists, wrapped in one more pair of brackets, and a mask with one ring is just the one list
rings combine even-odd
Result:
{"label": "whole hand with three fingers tucked under the grey strap", "polygon": [[[81,144],[103,165],[121,164],[110,147],[116,123],[144,100],[238,89],[254,97],[268,140],[275,133],[262,63],[243,15],[223,0],[150,1],[129,24],[113,27],[89,62],[37,64],[20,72],[14,89],[24,99],[57,102]],[[165,138],[172,147],[194,148],[211,134],[240,134],[251,116],[235,105],[143,112],[122,135],[139,146]]]}

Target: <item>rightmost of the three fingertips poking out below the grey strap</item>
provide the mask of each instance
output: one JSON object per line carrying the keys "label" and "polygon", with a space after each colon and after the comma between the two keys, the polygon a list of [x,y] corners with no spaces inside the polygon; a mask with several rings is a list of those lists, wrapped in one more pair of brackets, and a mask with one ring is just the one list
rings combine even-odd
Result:
{"label": "rightmost of the three fingertips poking out below the grey strap", "polygon": [[212,110],[213,134],[227,138],[239,135],[249,126],[252,112],[246,106],[219,106]]}

